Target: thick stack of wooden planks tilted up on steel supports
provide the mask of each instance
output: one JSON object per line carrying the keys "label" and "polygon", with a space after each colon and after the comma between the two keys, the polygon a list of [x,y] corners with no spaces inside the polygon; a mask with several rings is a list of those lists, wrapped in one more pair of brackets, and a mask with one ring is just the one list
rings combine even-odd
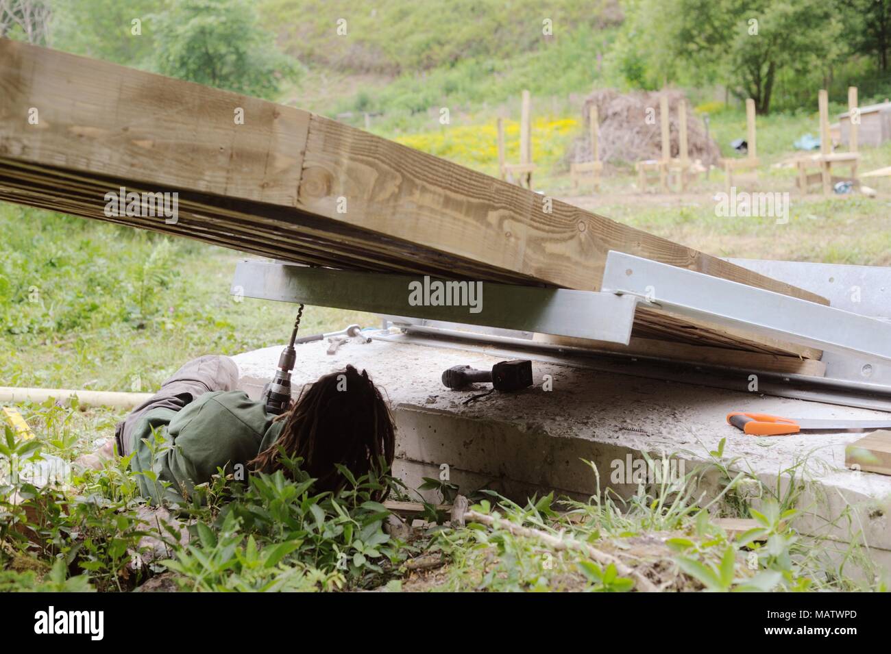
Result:
{"label": "thick stack of wooden planks tilted up on steel supports", "polygon": [[[120,187],[178,193],[178,220],[111,215]],[[827,303],[307,111],[5,39],[0,199],[341,269],[598,290],[618,250]],[[820,356],[659,311],[638,322],[650,338]]]}

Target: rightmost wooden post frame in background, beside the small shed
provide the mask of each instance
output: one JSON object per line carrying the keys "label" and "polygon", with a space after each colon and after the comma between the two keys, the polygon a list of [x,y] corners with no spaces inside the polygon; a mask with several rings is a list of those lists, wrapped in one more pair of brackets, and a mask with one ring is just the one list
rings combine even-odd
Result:
{"label": "rightmost wooden post frame in background, beside the small shed", "polygon": [[[860,179],[857,177],[857,164],[860,162],[860,153],[857,151],[857,127],[851,122],[850,149],[848,152],[833,152],[832,137],[830,135],[829,94],[826,89],[820,89],[818,93],[818,106],[820,109],[820,154],[799,157],[796,161],[797,184],[802,192],[815,183],[821,184],[823,195],[832,193],[833,184],[836,182],[854,182],[854,188],[860,188]],[[857,87],[851,86],[847,90],[848,111],[857,110]],[[849,177],[839,177],[832,174],[833,166],[847,166],[851,171]],[[812,168],[817,168],[816,173],[810,173]]]}

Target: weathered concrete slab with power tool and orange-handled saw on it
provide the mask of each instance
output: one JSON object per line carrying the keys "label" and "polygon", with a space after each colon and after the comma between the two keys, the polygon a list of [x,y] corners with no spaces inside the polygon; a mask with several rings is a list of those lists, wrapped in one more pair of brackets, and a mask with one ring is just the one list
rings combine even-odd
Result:
{"label": "weathered concrete slab with power tool and orange-handled saw on it", "polygon": [[[800,494],[805,516],[797,529],[875,548],[871,559],[891,569],[891,477],[845,469],[845,446],[856,432],[781,437],[748,436],[727,424],[733,410],[790,417],[879,419],[887,414],[818,402],[734,392],[534,362],[535,385],[514,394],[493,393],[463,404],[486,387],[455,392],[440,375],[446,367],[486,368],[500,360],[478,351],[407,343],[346,343],[333,355],[327,343],[298,346],[293,384],[350,363],[366,368],[386,390],[396,418],[396,474],[411,487],[439,476],[447,465],[462,492],[486,486],[525,500],[543,489],[574,497],[600,488],[634,494],[636,483],[613,483],[622,465],[641,458],[676,456],[686,472],[715,463],[709,452],[726,439],[723,463],[749,472],[767,488]],[[282,347],[234,357],[240,387],[257,397],[272,376]],[[740,373],[743,375],[743,373]],[[545,390],[550,378],[552,390]],[[628,456],[631,456],[629,459]],[[716,488],[720,472],[706,475]],[[627,480],[625,478],[625,480]],[[430,497],[434,499],[434,497]]]}

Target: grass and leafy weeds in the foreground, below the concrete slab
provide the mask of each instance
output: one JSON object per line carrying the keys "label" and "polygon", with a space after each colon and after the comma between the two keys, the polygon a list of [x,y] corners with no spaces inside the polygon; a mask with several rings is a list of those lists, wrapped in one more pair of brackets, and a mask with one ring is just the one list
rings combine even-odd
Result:
{"label": "grass and leafy weeds in the foreground, below the concrete slab", "polygon": [[[105,410],[27,405],[38,433],[7,429],[0,455],[69,459]],[[427,505],[425,521],[398,520],[372,494],[416,495],[390,478],[355,480],[335,495],[315,494],[293,466],[249,474],[246,484],[217,477],[198,496],[153,510],[136,494],[126,461],[74,472],[63,486],[0,479],[0,589],[185,591],[660,591],[882,590],[857,545],[802,537],[791,526],[802,482],[772,495],[754,476],[715,460],[683,475],[639,486],[632,497],[609,490],[585,501],[533,497],[519,505],[492,491],[471,492],[466,525],[446,524]],[[29,451],[30,450],[30,451]],[[658,462],[657,462],[658,464]],[[701,480],[722,479],[707,494]],[[592,474],[596,468],[592,466]],[[751,492],[751,487],[759,487]],[[764,497],[759,509],[750,497]],[[16,498],[14,501],[12,498]],[[712,518],[751,516],[732,537]],[[871,581],[856,581],[865,569]]]}

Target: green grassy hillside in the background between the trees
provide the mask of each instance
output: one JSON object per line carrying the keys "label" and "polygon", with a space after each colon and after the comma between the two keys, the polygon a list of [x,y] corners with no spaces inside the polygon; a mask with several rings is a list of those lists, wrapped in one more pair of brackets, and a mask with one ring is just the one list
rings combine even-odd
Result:
{"label": "green grassy hillside in the background between the trees", "polygon": [[[419,117],[431,110],[485,111],[524,88],[560,102],[588,92],[622,19],[615,0],[387,0],[362,12],[351,5],[258,4],[279,45],[307,68],[283,100],[356,125],[370,113],[375,125],[397,132],[422,126]],[[431,14],[442,29],[429,29]],[[341,18],[346,35],[338,34]],[[544,20],[552,21],[551,36]]]}

